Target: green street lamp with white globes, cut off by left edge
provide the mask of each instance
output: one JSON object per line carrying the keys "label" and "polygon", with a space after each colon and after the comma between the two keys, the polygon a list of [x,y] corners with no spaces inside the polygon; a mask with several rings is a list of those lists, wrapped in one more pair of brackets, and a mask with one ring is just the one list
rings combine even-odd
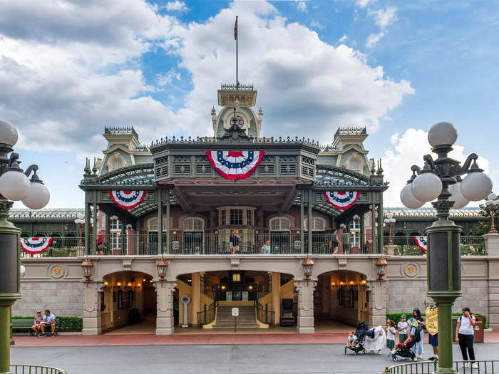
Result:
{"label": "green street lamp with white globes, cut off by left edge", "polygon": [[[19,298],[19,235],[21,230],[9,222],[12,201],[22,201],[26,207],[41,209],[48,204],[50,194],[38,178],[37,165],[26,172],[19,167],[19,154],[13,152],[17,142],[17,130],[13,125],[0,120],[0,324],[11,325],[11,306]],[[10,155],[9,155],[10,153]],[[33,172],[31,180],[29,176]],[[9,201],[12,200],[12,201]],[[10,333],[0,329],[0,373],[10,373]]]}

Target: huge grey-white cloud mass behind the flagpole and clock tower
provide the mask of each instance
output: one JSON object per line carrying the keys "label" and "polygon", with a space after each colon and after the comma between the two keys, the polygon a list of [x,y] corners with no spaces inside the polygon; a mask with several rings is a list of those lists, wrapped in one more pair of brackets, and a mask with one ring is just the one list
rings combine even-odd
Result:
{"label": "huge grey-white cloud mass behind the flagpole and clock tower", "polygon": [[[354,48],[321,41],[265,1],[235,1],[190,24],[157,8],[141,0],[4,1],[0,85],[9,90],[0,90],[0,118],[18,127],[19,147],[95,154],[103,149],[105,125],[133,125],[143,142],[167,135],[165,128],[170,135],[209,135],[216,89],[235,77],[235,14],[245,14],[240,80],[258,90],[262,135],[330,142],[338,125],[373,131],[413,93],[408,81],[387,77]],[[21,15],[24,22],[14,21]],[[161,46],[180,66],[168,66],[174,70],[153,77],[152,86],[140,58]],[[151,94],[185,78],[178,75],[182,69],[192,89],[173,110]]]}

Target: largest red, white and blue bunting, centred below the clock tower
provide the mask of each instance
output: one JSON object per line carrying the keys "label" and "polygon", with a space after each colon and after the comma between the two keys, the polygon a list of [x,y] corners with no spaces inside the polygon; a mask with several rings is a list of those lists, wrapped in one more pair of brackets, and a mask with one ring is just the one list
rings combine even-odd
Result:
{"label": "largest red, white and blue bunting, centred below the clock tower", "polygon": [[264,154],[263,150],[206,151],[212,167],[227,180],[244,180],[252,175]]}

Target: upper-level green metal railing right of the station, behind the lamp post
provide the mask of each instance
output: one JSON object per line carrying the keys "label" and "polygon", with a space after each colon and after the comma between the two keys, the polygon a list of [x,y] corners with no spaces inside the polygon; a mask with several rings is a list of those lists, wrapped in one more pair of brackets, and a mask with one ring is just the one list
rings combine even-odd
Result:
{"label": "upper-level green metal railing right of the station, behind the lamp post", "polygon": [[[421,256],[426,255],[416,245],[414,237],[394,236],[384,237],[384,254],[394,256]],[[485,238],[461,236],[461,256],[485,256]]]}

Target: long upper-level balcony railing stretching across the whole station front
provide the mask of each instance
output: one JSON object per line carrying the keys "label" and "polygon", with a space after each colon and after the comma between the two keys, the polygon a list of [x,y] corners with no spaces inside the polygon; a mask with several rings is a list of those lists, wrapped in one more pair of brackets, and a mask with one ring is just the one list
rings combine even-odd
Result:
{"label": "long upper-level balcony railing stretching across the whole station front", "polygon": [[[312,249],[309,251],[307,233],[304,233],[304,248],[299,233],[271,232],[242,236],[239,242],[239,253],[242,255],[289,255],[289,254],[321,254],[321,255],[359,255],[376,254],[378,235],[371,234],[312,234]],[[122,240],[124,239],[124,242]],[[78,238],[55,237],[51,246],[41,254],[28,254],[20,248],[23,258],[41,257],[78,257],[85,256],[85,248],[78,245]],[[268,241],[268,250],[264,244]],[[91,245],[93,240],[90,240]],[[119,235],[98,235],[96,250],[89,254],[101,256],[153,256],[158,254],[175,255],[231,255],[235,251],[232,237],[229,234],[205,234],[202,232],[183,232],[170,234],[170,251],[167,249],[167,234],[163,232],[163,249],[158,244],[158,233],[147,235],[130,234],[125,238]],[[384,254],[392,256],[426,256],[413,237],[384,237]],[[483,237],[461,237],[462,256],[484,256],[485,240]]]}

